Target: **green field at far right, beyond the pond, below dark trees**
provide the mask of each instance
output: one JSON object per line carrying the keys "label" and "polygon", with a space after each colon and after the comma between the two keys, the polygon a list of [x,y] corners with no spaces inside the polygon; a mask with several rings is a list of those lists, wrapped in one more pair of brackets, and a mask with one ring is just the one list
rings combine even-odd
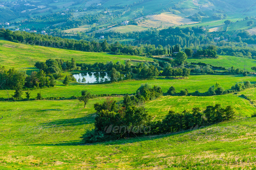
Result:
{"label": "green field at far right, beyond the pond, below dark trees", "polygon": [[251,67],[255,66],[256,60],[250,59],[250,58],[241,58],[241,57],[235,57],[235,56],[225,56],[221,55],[217,59],[212,58],[202,58],[202,59],[194,59],[194,58],[188,58],[187,60],[189,63],[198,63],[203,62],[206,64],[211,64],[213,66],[222,66],[226,68],[230,68],[234,66],[235,68],[240,68],[244,70],[244,67],[247,71],[252,71]]}

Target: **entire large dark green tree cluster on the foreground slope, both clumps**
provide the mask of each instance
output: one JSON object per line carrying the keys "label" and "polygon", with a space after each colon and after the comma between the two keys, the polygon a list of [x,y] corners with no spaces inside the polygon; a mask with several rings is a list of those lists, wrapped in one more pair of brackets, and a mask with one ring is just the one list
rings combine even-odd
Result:
{"label": "entire large dark green tree cluster on the foreground slope, both clumps", "polygon": [[103,103],[95,103],[95,128],[83,136],[86,143],[94,143],[140,135],[159,135],[179,132],[234,118],[231,106],[222,108],[220,104],[207,106],[204,111],[193,108],[192,112],[169,111],[163,120],[153,121],[143,106],[135,106],[129,96],[124,96],[123,105],[117,106],[114,99],[107,98]]}

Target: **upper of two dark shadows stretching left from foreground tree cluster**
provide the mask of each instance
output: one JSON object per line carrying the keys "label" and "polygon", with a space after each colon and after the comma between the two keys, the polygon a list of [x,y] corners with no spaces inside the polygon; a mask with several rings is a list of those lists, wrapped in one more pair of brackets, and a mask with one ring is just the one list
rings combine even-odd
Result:
{"label": "upper of two dark shadows stretching left from foreground tree cluster", "polygon": [[45,126],[45,128],[56,128],[56,127],[64,127],[64,126],[79,126],[79,125],[87,125],[94,122],[94,117],[92,116],[94,113],[86,115],[84,117],[72,118],[72,119],[59,119],[52,122],[41,123],[40,125]]}

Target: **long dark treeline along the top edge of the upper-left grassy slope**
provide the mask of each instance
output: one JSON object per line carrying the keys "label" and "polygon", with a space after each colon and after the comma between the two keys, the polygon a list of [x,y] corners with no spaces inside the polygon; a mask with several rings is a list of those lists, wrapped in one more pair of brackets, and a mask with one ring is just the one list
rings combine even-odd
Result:
{"label": "long dark treeline along the top edge of the upper-left grassy slope", "polygon": [[12,42],[20,42],[30,45],[41,45],[54,48],[64,48],[79,51],[90,52],[110,52],[113,54],[127,54],[127,55],[171,55],[174,52],[181,51],[181,45],[175,44],[174,46],[145,44],[139,46],[122,45],[119,42],[108,44],[106,40],[103,42],[88,42],[84,40],[66,39],[60,37],[53,37],[49,35],[41,35],[28,32],[0,29],[0,36]]}

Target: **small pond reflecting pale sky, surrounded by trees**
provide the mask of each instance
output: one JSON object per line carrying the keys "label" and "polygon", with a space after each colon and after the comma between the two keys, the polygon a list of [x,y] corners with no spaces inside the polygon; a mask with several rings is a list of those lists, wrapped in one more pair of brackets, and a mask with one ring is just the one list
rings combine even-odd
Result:
{"label": "small pond reflecting pale sky, surrounded by trees", "polygon": [[[106,81],[110,81],[110,77],[108,76],[108,72],[84,72],[79,74],[73,74],[75,80],[79,82],[79,78],[81,82],[79,83],[102,83]],[[82,82],[83,78],[85,81]]]}

